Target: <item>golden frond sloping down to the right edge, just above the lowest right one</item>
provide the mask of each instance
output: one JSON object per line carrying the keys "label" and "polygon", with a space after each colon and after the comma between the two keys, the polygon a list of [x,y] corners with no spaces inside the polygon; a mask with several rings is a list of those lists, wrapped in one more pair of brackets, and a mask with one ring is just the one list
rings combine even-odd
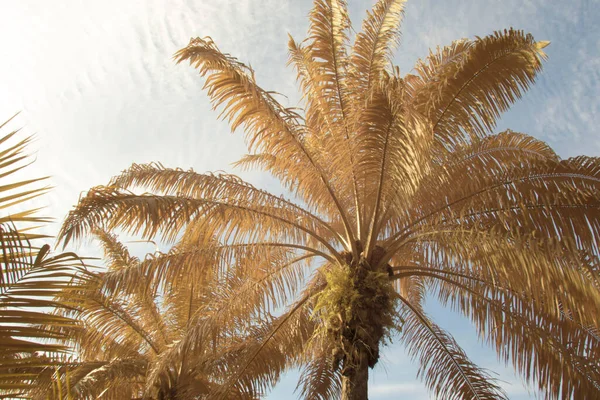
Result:
{"label": "golden frond sloping down to the right edge, just above the lowest right one", "polygon": [[[457,240],[468,243],[459,245]],[[548,315],[567,312],[580,323],[598,323],[598,291],[582,268],[583,260],[569,251],[551,251],[526,237],[477,231],[432,234],[423,242],[418,254],[425,257],[414,267],[399,268],[400,274],[465,279],[489,290],[516,293]]]}

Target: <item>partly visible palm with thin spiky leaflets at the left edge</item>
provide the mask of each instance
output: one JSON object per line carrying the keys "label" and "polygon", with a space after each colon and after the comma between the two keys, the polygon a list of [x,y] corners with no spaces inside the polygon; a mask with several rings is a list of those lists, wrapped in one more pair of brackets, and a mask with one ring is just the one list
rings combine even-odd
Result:
{"label": "partly visible palm with thin spiky leaflets at the left edge", "polygon": [[39,244],[47,236],[32,224],[49,219],[23,204],[47,191],[40,186],[46,178],[16,180],[30,163],[25,150],[31,142],[30,137],[14,142],[17,133],[0,138],[0,398],[26,396],[40,375],[68,357],[59,329],[75,322],[50,310],[81,263],[72,253],[50,256],[50,246]]}

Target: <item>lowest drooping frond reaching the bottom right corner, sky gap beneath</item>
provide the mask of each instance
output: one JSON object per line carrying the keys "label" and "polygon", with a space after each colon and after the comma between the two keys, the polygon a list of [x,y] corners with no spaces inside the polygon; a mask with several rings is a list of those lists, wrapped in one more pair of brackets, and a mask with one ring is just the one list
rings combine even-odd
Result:
{"label": "lowest drooping frond reaching the bottom right corner, sky gap beneath", "polygon": [[[461,282],[462,281],[462,282]],[[600,392],[597,330],[574,321],[527,293],[472,281],[438,280],[440,300],[469,316],[504,362],[552,399],[594,397]]]}

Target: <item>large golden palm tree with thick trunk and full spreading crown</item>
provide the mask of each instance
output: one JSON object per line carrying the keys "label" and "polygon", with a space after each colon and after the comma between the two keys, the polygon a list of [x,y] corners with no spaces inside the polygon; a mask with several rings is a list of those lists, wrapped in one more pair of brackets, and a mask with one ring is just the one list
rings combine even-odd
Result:
{"label": "large golden palm tree with thick trunk and full spreading crown", "polygon": [[243,319],[260,333],[218,398],[272,359],[269,379],[303,366],[306,398],[366,399],[369,367],[396,334],[437,398],[505,398],[427,315],[427,295],[470,318],[548,398],[599,396],[600,160],[493,134],[548,42],[514,29],[463,39],[401,76],[391,58],[403,7],[379,0],[350,44],[345,1],[315,0],[308,39],[289,41],[301,111],[210,38],[175,55],[244,129],[250,154],[238,165],[268,171],[291,199],[232,176],[134,165],[81,199],[62,238],[102,224],[182,238],[249,273],[269,265],[266,293],[289,285],[264,324]]}

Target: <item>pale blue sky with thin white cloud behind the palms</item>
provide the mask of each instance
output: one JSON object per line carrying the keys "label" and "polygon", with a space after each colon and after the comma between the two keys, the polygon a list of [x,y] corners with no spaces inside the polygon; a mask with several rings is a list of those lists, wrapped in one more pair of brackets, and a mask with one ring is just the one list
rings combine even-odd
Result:
{"label": "pale blue sky with thin white cloud behind the palms", "polygon": [[[348,0],[354,28],[373,1]],[[175,51],[191,37],[211,36],[223,52],[250,64],[259,84],[285,106],[298,104],[286,67],[287,34],[301,40],[310,0],[0,0],[0,120],[35,134],[28,173],[50,175],[38,200],[57,223],[82,192],[105,184],[133,162],[159,161],[198,172],[225,170],[279,193],[272,178],[236,171],[245,153],[211,109],[203,81]],[[600,0],[414,0],[406,6],[395,63],[409,73],[428,49],[514,27],[549,40],[537,84],[507,112],[511,128],[548,142],[563,157],[600,155]],[[510,399],[540,397],[480,344],[470,322],[435,302],[428,309],[467,354],[498,373]],[[402,348],[384,349],[370,398],[427,399],[417,368]],[[297,375],[268,399],[294,398]]]}

